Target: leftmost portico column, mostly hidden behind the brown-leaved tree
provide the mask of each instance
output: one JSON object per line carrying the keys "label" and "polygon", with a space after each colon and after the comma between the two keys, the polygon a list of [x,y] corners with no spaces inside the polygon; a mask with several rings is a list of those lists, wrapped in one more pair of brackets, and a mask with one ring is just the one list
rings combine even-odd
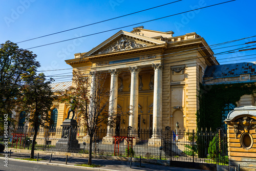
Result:
{"label": "leftmost portico column, mostly hidden behind the brown-leaved tree", "polygon": [[[95,100],[96,98],[94,98],[95,96],[95,83],[96,83],[96,71],[90,71],[89,73],[91,75],[91,91],[90,91],[90,105],[89,105],[89,118],[88,118],[88,124],[90,125],[91,123],[91,120],[92,120],[92,116],[93,116],[93,113],[94,113],[94,106],[95,106]],[[84,142],[86,143],[90,143],[90,136],[87,134],[85,137],[84,137]]]}

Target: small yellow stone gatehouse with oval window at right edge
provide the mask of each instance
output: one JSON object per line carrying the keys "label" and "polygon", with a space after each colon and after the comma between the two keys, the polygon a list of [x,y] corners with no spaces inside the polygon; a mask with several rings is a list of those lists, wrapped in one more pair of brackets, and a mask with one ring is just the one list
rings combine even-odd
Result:
{"label": "small yellow stone gatehouse with oval window at right edge", "polygon": [[256,106],[240,106],[224,121],[228,125],[230,170],[240,164],[243,170],[256,170]]}

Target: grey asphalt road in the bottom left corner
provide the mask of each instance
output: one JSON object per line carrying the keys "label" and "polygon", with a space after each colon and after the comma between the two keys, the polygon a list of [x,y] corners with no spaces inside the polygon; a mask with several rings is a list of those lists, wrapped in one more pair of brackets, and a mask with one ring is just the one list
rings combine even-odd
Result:
{"label": "grey asphalt road in the bottom left corner", "polygon": [[[19,162],[19,161],[14,161],[14,160],[8,160],[8,167],[4,166],[4,160],[0,159],[0,170],[15,170],[15,171],[64,171],[64,170],[69,170],[69,171],[74,171],[74,170],[84,170],[84,169],[79,169],[79,168],[70,168],[70,167],[61,167],[61,166],[54,166],[54,165],[44,165],[44,164],[36,164],[36,163],[27,163],[27,162]],[[92,170],[95,171],[95,169],[86,169],[86,170]]]}

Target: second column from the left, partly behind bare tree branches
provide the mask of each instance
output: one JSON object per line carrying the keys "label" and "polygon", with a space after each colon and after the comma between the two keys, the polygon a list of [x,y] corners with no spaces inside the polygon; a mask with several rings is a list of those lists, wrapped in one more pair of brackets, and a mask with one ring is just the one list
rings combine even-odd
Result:
{"label": "second column from the left, partly behind bare tree branches", "polygon": [[[116,115],[117,113],[117,92],[118,92],[118,69],[109,70],[111,73],[111,82],[110,82],[110,104],[109,104],[109,116]],[[112,117],[109,117],[108,120],[111,121]],[[106,136],[103,137],[103,144],[112,144],[115,140],[115,130],[108,125],[108,130]]]}

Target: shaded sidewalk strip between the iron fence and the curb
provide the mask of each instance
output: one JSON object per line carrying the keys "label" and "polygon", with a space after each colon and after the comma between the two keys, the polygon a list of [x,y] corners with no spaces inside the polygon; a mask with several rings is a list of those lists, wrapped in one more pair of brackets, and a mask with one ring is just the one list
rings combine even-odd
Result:
{"label": "shaded sidewalk strip between the iron fence and the curb", "polygon": [[[2,153],[3,154],[3,153]],[[0,156],[2,157],[2,156]],[[9,157],[9,155],[8,155]],[[35,157],[37,157],[37,154],[35,153]],[[30,158],[30,154],[28,153],[18,153],[18,152],[12,152],[11,158]],[[50,155],[39,155],[39,159],[44,158],[46,160],[41,160],[39,162],[41,163],[49,163]],[[66,156],[52,156],[51,163],[55,164],[66,164]],[[76,165],[76,164],[84,164],[88,163],[88,158],[79,158],[79,157],[71,157],[68,156],[68,165]],[[132,171],[132,170],[194,170],[199,171],[202,169],[193,169],[193,168],[180,168],[180,167],[168,167],[163,165],[155,165],[155,164],[148,164],[148,163],[140,163],[132,162],[132,168],[130,168],[130,162],[127,161],[117,161],[117,160],[105,160],[105,159],[92,159],[93,164],[97,165],[103,165],[102,167],[97,167],[98,170],[102,169],[110,169],[110,170],[122,170],[122,171]],[[91,167],[88,167],[88,169],[92,169]]]}

